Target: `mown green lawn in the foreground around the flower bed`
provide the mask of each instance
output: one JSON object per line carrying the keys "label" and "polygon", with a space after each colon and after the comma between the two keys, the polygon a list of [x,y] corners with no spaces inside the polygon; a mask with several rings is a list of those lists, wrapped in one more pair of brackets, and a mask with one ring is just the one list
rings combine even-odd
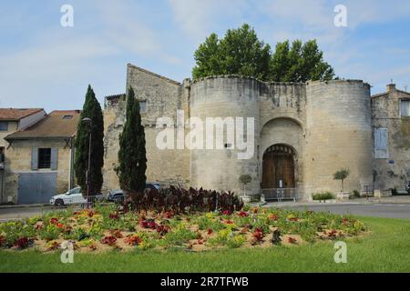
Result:
{"label": "mown green lawn in the foreground around the flower bed", "polygon": [[206,253],[185,251],[76,254],[0,251],[0,272],[410,272],[410,221],[359,217],[371,233],[346,240],[347,264],[335,264],[333,242]]}

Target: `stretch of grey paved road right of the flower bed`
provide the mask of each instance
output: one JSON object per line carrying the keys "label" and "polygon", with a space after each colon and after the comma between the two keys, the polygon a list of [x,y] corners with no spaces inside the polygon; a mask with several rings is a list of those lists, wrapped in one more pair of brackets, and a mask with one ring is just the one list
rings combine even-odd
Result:
{"label": "stretch of grey paved road right of the flower bed", "polygon": [[374,216],[410,219],[410,204],[370,204],[370,205],[323,205],[323,206],[283,206],[298,210],[329,211],[334,214],[354,216]]}

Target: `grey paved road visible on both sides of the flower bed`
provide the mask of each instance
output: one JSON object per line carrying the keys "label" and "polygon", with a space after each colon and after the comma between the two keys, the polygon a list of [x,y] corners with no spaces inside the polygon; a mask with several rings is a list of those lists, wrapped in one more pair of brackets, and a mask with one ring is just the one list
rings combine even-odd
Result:
{"label": "grey paved road visible on both sides of the flower bed", "polygon": [[[267,206],[273,206],[271,204]],[[276,204],[275,204],[276,206]],[[355,216],[376,216],[387,218],[410,219],[410,204],[336,204],[336,205],[309,205],[291,206],[287,204],[284,208],[298,210],[330,211],[335,214],[352,214]],[[42,212],[56,210],[54,207],[22,207],[22,208],[0,208],[0,221],[41,216]]]}

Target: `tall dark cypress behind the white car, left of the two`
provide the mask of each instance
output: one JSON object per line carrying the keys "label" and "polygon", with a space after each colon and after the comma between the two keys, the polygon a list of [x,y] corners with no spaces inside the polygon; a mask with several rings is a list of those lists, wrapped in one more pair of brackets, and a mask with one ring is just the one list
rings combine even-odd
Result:
{"label": "tall dark cypress behind the white car, left of the two", "polygon": [[[92,123],[82,122],[83,118],[91,118]],[[104,119],[96,95],[91,85],[88,85],[86,101],[77,125],[77,136],[75,141],[74,170],[77,184],[81,186],[83,196],[87,195],[87,168],[88,168],[88,147],[89,130],[91,130],[91,165],[90,165],[90,196],[95,196],[101,192],[103,184],[102,167],[104,166]]]}

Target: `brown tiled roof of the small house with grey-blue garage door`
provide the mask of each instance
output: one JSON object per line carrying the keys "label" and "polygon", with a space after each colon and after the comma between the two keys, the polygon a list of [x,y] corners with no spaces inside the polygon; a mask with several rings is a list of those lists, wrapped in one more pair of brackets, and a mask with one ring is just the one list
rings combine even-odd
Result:
{"label": "brown tiled roof of the small house with grey-blue garage door", "polygon": [[65,138],[76,135],[79,110],[56,110],[46,115],[35,125],[14,134],[5,136],[6,140],[27,138]]}

